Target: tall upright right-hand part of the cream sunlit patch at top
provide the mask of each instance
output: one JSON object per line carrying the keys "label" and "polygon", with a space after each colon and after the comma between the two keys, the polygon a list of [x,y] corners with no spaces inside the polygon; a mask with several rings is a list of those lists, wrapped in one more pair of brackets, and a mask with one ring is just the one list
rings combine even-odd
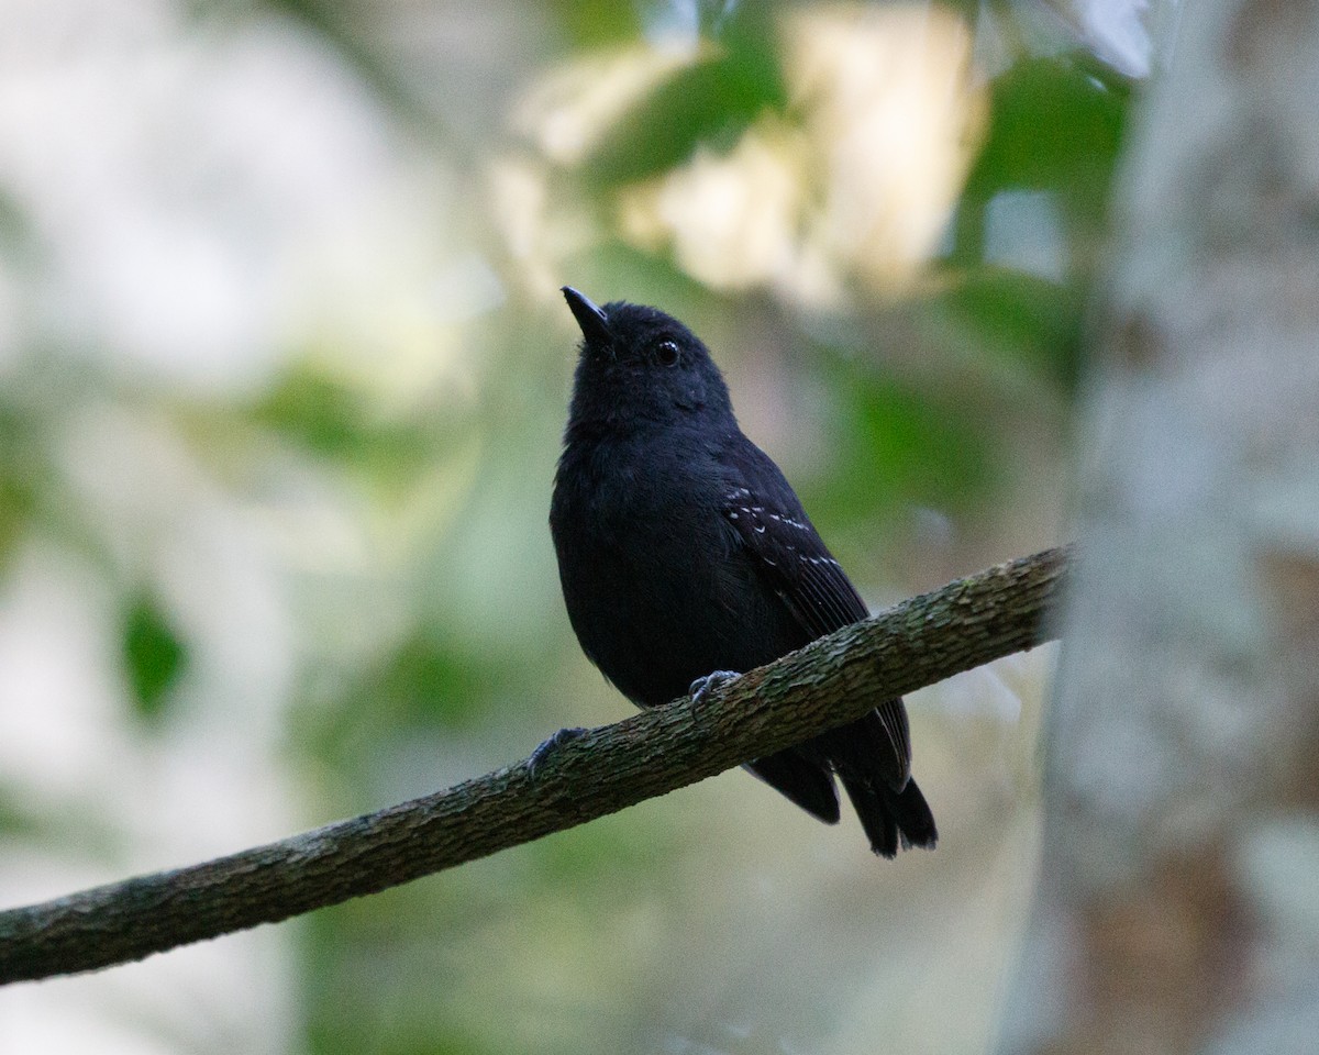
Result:
{"label": "tall upright right-hand part of the cream sunlit patch at top", "polygon": [[900,289],[938,245],[985,121],[972,33],[936,7],[836,5],[791,16],[783,40],[819,164],[806,237]]}

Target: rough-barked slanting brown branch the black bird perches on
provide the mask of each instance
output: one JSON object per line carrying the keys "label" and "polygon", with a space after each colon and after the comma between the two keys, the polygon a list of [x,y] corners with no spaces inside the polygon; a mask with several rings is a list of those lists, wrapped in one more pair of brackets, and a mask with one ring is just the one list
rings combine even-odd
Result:
{"label": "rough-barked slanting brown branch the black bird perches on", "polygon": [[1067,549],[897,604],[694,704],[352,820],[0,913],[0,984],[94,971],[373,894],[633,806],[860,717],[1053,634]]}

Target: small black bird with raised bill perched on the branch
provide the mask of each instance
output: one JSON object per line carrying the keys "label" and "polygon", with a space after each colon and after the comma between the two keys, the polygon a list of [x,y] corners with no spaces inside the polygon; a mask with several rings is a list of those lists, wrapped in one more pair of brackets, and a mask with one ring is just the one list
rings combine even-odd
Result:
{"label": "small black bird with raised bill perched on the branch", "polygon": [[[563,295],[582,346],[550,530],[568,618],[605,678],[657,707],[864,618],[696,335],[654,307]],[[747,769],[830,824],[838,774],[884,857],[935,843],[902,700]]]}

